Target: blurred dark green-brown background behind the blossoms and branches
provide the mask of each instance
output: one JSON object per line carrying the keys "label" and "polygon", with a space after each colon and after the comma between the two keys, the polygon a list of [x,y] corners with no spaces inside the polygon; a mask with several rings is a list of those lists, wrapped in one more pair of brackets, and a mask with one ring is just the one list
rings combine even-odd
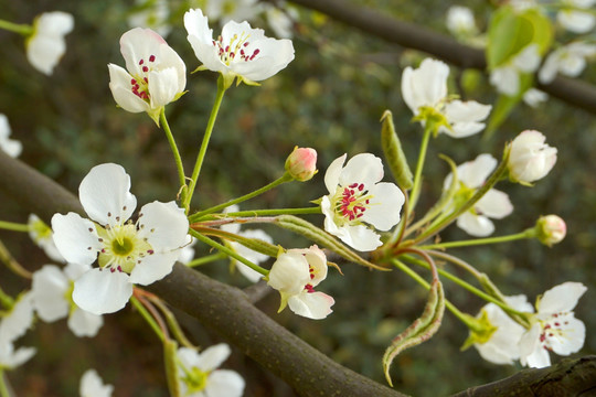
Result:
{"label": "blurred dark green-brown background behind the blossoms and branches", "polygon": [[[179,2],[172,2],[179,6]],[[446,32],[445,13],[451,2],[438,0],[353,1],[368,4],[396,18]],[[459,2],[458,4],[466,4]],[[477,23],[486,28],[489,4],[467,1]],[[0,112],[8,116],[13,138],[23,142],[21,159],[76,192],[82,178],[98,163],[117,162],[131,176],[132,193],[139,205],[149,201],[173,200],[177,193],[175,168],[168,142],[145,114],[129,114],[115,106],[108,88],[106,65],[124,65],[118,40],[129,28],[126,19],[132,2],[83,1],[0,1],[0,18],[29,23],[43,11],[63,10],[75,15],[75,29],[67,36],[67,52],[54,75],[46,77],[28,63],[23,40],[0,32]],[[180,6],[185,10],[187,6]],[[172,14],[173,30],[168,43],[181,55],[189,71],[199,66],[185,40],[180,13]],[[264,21],[253,25],[265,28]],[[224,98],[207,158],[203,167],[194,207],[205,207],[251,192],[278,178],[287,154],[295,146],[312,147],[319,153],[320,172],[305,184],[284,185],[253,200],[243,208],[305,206],[326,193],[324,170],[337,157],[360,152],[381,155],[379,119],[391,109],[395,126],[414,165],[422,130],[411,124],[412,114],[401,98],[400,82],[406,65],[416,65],[425,55],[387,44],[342,24],[299,9],[294,45],[296,60],[260,87],[240,86]],[[219,28],[214,26],[217,32]],[[493,103],[496,94],[487,77],[477,72],[451,67],[451,76],[462,77],[467,98]],[[596,82],[589,68],[583,79]],[[216,75],[189,74],[184,95],[168,106],[168,119],[180,146],[187,169],[199,150],[215,95]],[[455,92],[455,84],[451,92]],[[538,129],[547,142],[558,148],[555,169],[529,189],[503,183],[514,213],[497,221],[497,234],[517,233],[531,227],[540,215],[558,214],[567,222],[567,238],[553,248],[538,242],[518,242],[496,247],[454,251],[478,269],[491,275],[507,294],[525,293],[530,301],[564,281],[582,281],[590,289],[576,308],[576,316],[586,323],[587,339],[577,356],[596,352],[596,316],[593,254],[596,248],[596,122],[593,115],[551,98],[538,109],[523,104],[491,140],[471,137],[455,140],[439,136],[428,152],[425,185],[419,211],[429,207],[440,194],[448,173],[438,160],[445,153],[457,163],[478,153],[499,157],[507,140],[524,129]],[[25,222],[28,212],[6,197],[0,217]],[[322,225],[322,216],[311,222]],[[273,233],[273,229],[267,229]],[[276,243],[304,247],[307,242],[275,230]],[[450,227],[444,240],[466,238]],[[24,235],[0,233],[15,258],[29,269],[47,259],[32,249]],[[198,248],[206,254],[205,247]],[[339,363],[384,383],[381,357],[391,339],[422,312],[425,291],[400,271],[370,272],[345,265],[343,276],[331,271],[321,290],[336,298],[333,314],[323,321],[277,314],[278,296],[270,293],[258,303],[276,321],[321,350]],[[231,275],[227,261],[201,268],[233,285],[248,283]],[[427,276],[427,275],[425,275]],[[464,275],[460,275],[464,276]],[[29,282],[0,269],[0,282],[8,292],[29,288]],[[446,282],[448,299],[462,311],[477,313],[483,302]],[[78,379],[94,367],[106,383],[116,387],[116,396],[163,396],[167,394],[162,352],[155,335],[132,310],[105,316],[97,337],[76,339],[65,321],[39,322],[22,345],[33,345],[38,355],[10,379],[19,396],[77,395]],[[187,319],[188,320],[188,319]],[[184,321],[193,342],[209,346],[217,335]],[[473,348],[459,352],[467,337],[466,328],[453,315],[445,315],[440,331],[422,346],[402,353],[393,366],[395,388],[415,396],[443,396],[500,379],[518,367],[498,366],[482,361]],[[554,362],[561,360],[552,355]],[[246,396],[292,396],[294,391],[274,375],[235,352],[224,367],[240,372],[247,382]]]}

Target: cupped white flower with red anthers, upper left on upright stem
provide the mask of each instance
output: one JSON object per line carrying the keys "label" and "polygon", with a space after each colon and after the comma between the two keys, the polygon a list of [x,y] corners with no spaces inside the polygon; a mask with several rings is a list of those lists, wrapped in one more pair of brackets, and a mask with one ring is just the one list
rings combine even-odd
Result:
{"label": "cupped white flower with red anthers, upper left on upright stem", "polygon": [[109,64],[109,89],[123,109],[147,111],[159,125],[162,108],[183,95],[187,66],[166,41],[150,29],[135,28],[120,37],[126,69]]}

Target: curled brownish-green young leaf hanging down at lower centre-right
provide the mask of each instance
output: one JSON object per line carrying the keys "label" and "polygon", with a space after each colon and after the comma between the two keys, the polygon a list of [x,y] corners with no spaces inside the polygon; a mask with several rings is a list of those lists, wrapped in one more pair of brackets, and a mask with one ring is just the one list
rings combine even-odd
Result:
{"label": "curled brownish-green young leaf hanging down at lower centre-right", "polygon": [[443,292],[443,285],[438,279],[435,279],[430,285],[428,300],[426,301],[422,316],[416,319],[412,325],[397,335],[383,355],[383,371],[390,386],[393,387],[390,375],[393,360],[404,350],[429,340],[439,329],[444,312],[445,294]]}

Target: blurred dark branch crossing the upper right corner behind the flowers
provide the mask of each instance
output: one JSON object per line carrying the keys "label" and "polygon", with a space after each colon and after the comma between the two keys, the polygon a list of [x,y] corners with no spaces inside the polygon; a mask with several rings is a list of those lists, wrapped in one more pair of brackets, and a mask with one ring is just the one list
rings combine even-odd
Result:
{"label": "blurred dark branch crossing the upper right corner behind the flowers", "polygon": [[[450,36],[397,20],[379,11],[351,4],[344,0],[290,0],[296,4],[322,12],[334,20],[390,43],[419,50],[464,68],[485,71],[487,61],[481,50],[464,45]],[[551,84],[538,88],[592,114],[596,114],[596,87],[577,79],[557,76]]]}

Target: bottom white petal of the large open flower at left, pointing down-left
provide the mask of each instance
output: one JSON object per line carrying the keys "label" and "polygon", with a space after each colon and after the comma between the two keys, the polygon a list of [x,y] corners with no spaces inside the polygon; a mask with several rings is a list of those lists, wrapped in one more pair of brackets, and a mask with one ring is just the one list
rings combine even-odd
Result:
{"label": "bottom white petal of the large open flower at left, pointing down-left", "polygon": [[132,285],[125,272],[93,269],[75,281],[73,300],[94,314],[114,313],[132,296]]}

